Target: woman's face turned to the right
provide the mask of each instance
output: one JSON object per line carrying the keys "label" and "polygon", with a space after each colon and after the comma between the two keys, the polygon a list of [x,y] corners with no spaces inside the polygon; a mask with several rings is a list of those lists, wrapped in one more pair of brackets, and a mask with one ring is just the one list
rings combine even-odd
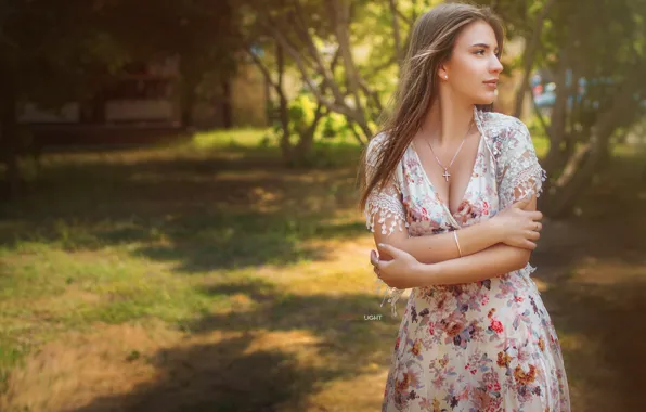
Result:
{"label": "woman's face turned to the right", "polygon": [[451,59],[440,66],[439,80],[471,104],[492,103],[503,69],[498,47],[489,24],[471,23],[457,36]]}

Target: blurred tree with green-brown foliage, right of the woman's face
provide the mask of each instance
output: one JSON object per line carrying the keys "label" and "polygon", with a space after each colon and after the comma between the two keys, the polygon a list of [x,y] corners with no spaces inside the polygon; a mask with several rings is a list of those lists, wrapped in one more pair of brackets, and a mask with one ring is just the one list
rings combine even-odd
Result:
{"label": "blurred tree with green-brown foliage, right of the woman's face", "polygon": [[646,2],[643,0],[483,0],[503,16],[508,37],[525,51],[515,115],[529,91],[530,74],[546,70],[556,87],[550,118],[534,105],[550,139],[543,162],[548,181],[540,198],[552,217],[570,215],[612,144],[634,128],[646,108]]}

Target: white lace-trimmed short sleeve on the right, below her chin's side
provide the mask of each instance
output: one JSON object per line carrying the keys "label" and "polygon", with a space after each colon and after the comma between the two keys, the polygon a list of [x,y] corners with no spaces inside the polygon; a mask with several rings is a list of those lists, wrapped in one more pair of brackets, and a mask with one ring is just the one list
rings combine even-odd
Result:
{"label": "white lace-trimmed short sleeve on the right, below her chin's side", "polygon": [[539,164],[527,126],[518,119],[501,139],[496,178],[501,209],[526,195],[541,195],[546,173]]}

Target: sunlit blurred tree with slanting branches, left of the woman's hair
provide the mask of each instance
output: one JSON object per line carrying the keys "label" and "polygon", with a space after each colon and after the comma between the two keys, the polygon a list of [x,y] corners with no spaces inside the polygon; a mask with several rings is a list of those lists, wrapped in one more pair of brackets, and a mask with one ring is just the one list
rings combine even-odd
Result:
{"label": "sunlit blurred tree with slanting branches, left of the woman's hair", "polygon": [[[288,163],[307,158],[326,113],[345,117],[364,144],[395,89],[412,22],[429,1],[245,0],[242,27],[249,59],[277,95],[281,147]],[[262,53],[258,53],[262,50]],[[293,123],[284,88],[296,72],[316,101],[312,124],[290,143]]]}

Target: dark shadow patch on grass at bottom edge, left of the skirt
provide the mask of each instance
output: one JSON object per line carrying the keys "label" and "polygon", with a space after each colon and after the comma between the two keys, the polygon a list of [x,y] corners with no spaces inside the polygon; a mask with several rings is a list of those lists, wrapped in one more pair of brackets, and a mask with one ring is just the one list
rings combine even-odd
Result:
{"label": "dark shadow patch on grass at bottom edge, left of the skirt", "polygon": [[245,353],[253,342],[246,336],[162,351],[153,361],[159,376],[154,384],[124,397],[99,398],[76,411],[274,411],[274,404],[311,390],[316,370],[280,351]]}

